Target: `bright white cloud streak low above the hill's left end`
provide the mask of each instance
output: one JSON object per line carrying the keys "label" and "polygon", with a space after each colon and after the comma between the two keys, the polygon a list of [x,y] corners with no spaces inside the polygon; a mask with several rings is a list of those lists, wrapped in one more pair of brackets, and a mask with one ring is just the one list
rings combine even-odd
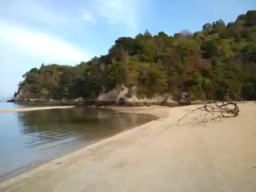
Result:
{"label": "bright white cloud streak low above the hill's left end", "polygon": [[[0,46],[2,55],[10,57],[13,53],[23,57],[39,57],[52,62],[75,63],[89,59],[81,50],[69,45],[63,39],[26,28],[11,26],[0,22]],[[44,62],[44,60],[42,60]]]}

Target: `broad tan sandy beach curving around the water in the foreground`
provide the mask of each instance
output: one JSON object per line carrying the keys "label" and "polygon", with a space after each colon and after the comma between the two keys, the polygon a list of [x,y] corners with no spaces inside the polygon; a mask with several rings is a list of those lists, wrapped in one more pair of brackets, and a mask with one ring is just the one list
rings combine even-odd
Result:
{"label": "broad tan sandy beach curving around the water in the foreground", "polygon": [[[209,125],[196,106],[115,108],[160,118],[0,183],[0,191],[256,191],[256,103]],[[199,115],[199,114],[195,114]]]}

